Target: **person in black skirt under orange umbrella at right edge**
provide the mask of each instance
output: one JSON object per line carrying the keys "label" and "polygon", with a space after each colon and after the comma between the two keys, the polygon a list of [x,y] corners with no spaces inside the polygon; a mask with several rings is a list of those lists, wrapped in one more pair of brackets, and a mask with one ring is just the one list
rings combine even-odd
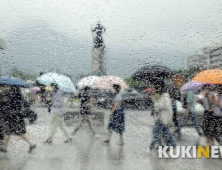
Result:
{"label": "person in black skirt under orange umbrella at right edge", "polygon": [[221,130],[222,127],[222,87],[204,86],[201,93],[203,98],[203,105],[205,108],[203,131],[207,138],[207,144],[213,146],[215,139],[221,143]]}

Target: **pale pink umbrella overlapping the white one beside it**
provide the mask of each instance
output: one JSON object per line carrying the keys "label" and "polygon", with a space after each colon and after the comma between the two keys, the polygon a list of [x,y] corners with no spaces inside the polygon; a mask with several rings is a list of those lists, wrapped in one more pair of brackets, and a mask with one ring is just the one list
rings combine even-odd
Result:
{"label": "pale pink umbrella overlapping the white one beside it", "polygon": [[102,76],[95,83],[95,87],[106,90],[113,90],[113,84],[120,85],[122,90],[129,89],[129,86],[124,82],[124,80],[117,76]]}

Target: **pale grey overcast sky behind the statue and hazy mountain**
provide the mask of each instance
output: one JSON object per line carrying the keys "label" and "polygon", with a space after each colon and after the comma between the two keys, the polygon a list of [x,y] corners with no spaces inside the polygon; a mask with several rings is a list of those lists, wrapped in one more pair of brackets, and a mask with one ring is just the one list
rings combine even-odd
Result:
{"label": "pale grey overcast sky behind the statue and hazy mountain", "polygon": [[[19,55],[25,56],[26,50],[13,47],[13,39],[25,38],[16,32],[43,22],[70,41],[84,44],[85,49],[80,49],[81,45],[74,45],[73,49],[83,50],[89,59],[85,61],[90,62],[90,26],[100,20],[107,29],[104,39],[108,73],[127,77],[145,62],[162,62],[171,68],[181,68],[187,56],[221,42],[221,10],[221,0],[1,0],[0,36],[8,46],[7,54],[1,57],[10,58],[8,68],[12,63],[20,67],[15,51],[17,57],[21,57]],[[44,28],[39,29],[41,32]],[[1,67],[5,67],[5,63],[1,63]],[[27,68],[39,71],[35,63],[31,65]],[[53,65],[51,62],[51,67]],[[72,65],[76,68],[82,65],[84,69],[90,66],[81,60],[75,60]]]}

